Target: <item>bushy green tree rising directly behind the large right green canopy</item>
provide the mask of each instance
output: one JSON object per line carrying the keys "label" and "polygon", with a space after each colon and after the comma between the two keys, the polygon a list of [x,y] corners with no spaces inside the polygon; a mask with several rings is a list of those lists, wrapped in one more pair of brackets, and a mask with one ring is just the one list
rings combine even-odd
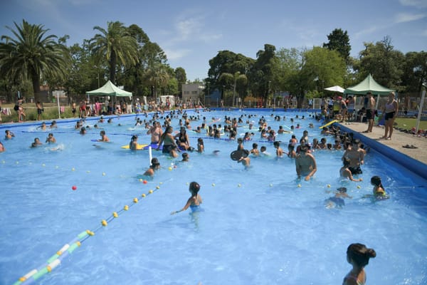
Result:
{"label": "bushy green tree rising directly behind the large right green canopy", "polygon": [[399,90],[404,73],[404,54],[394,50],[389,36],[376,44],[364,43],[364,46],[364,51],[359,53],[359,80],[370,73],[382,86]]}

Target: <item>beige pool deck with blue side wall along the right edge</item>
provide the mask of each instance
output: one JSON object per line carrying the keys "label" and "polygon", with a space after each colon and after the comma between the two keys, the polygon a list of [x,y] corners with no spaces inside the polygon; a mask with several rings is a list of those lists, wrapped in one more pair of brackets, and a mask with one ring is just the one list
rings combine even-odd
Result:
{"label": "beige pool deck with blue side wall along the right edge", "polygon": [[[394,130],[391,140],[380,139],[384,135],[384,127],[374,126],[372,133],[362,133],[367,130],[367,123],[340,123],[343,131],[354,133],[355,138],[359,138],[367,145],[373,146],[383,155],[396,160],[399,163],[405,160],[406,167],[417,172],[421,177],[427,177],[427,138],[417,137],[411,133],[404,133]],[[404,145],[413,145],[416,148],[406,148]],[[404,164],[404,163],[402,163]]]}

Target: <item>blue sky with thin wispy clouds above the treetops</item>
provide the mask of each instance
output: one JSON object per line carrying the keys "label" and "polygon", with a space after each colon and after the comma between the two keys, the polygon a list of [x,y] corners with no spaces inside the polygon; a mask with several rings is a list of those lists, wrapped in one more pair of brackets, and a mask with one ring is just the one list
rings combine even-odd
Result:
{"label": "blue sky with thin wispy clouds above the treetops", "polygon": [[327,42],[334,28],[347,30],[351,55],[364,42],[390,36],[404,53],[427,51],[427,0],[325,1],[113,1],[3,0],[0,34],[22,19],[43,24],[68,45],[95,35],[107,21],[137,24],[167,53],[172,68],[187,78],[206,78],[209,59],[229,50],[256,58],[265,43],[279,48],[312,48]]}

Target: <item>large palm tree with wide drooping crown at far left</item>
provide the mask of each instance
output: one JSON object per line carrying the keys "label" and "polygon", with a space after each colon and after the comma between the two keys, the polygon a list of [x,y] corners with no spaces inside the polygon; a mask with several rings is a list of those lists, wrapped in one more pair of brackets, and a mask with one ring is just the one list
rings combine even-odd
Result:
{"label": "large palm tree with wide drooping crown at far left", "polygon": [[40,100],[41,76],[64,78],[67,56],[65,47],[57,43],[55,35],[45,36],[49,29],[43,25],[28,24],[22,20],[16,31],[6,26],[13,34],[1,36],[0,74],[11,82],[28,79],[33,83],[34,98]]}

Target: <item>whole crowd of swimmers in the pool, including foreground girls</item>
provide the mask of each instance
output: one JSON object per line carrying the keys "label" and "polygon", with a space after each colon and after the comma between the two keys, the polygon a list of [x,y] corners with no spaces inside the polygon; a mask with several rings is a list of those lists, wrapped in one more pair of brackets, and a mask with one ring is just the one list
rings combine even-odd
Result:
{"label": "whole crowd of swimmers in the pool, including foreground girls", "polygon": [[[179,118],[181,115],[179,123],[179,131],[174,133],[174,128],[172,127],[172,119]],[[273,114],[272,114],[273,116]],[[311,116],[311,115],[310,115]],[[164,155],[169,155],[171,157],[178,157],[178,152],[182,152],[181,162],[189,161],[189,153],[191,151],[196,151],[203,153],[205,152],[205,145],[203,138],[197,138],[197,146],[191,147],[189,140],[189,135],[187,132],[201,133],[206,132],[206,135],[212,138],[221,138],[221,135],[226,136],[226,140],[236,140],[238,143],[237,151],[241,154],[241,157],[237,157],[237,162],[242,163],[246,169],[251,166],[251,157],[267,157],[270,156],[270,153],[267,152],[267,147],[262,145],[258,150],[258,142],[273,142],[273,147],[275,149],[275,157],[289,157],[292,160],[295,160],[295,171],[297,177],[304,180],[310,180],[315,173],[317,172],[317,164],[315,160],[315,152],[320,150],[340,150],[342,151],[342,167],[339,169],[339,175],[343,179],[351,181],[362,181],[362,165],[364,164],[364,157],[367,154],[367,150],[364,148],[364,145],[358,140],[354,139],[352,133],[342,133],[339,130],[339,127],[330,125],[329,128],[325,127],[322,129],[321,135],[322,138],[318,140],[313,138],[312,142],[309,141],[309,132],[304,130],[302,137],[298,140],[295,135],[291,135],[289,142],[281,142],[276,140],[278,134],[282,133],[291,133],[292,130],[295,130],[293,125],[294,118],[290,118],[290,123],[292,127],[285,130],[283,125],[280,125],[277,132],[268,126],[267,120],[262,116],[258,119],[258,128],[255,127],[255,118],[256,115],[241,115],[239,118],[230,118],[225,116],[223,118],[224,125],[217,124],[220,120],[218,118],[212,118],[210,122],[206,117],[201,118],[201,115],[188,116],[186,113],[182,112],[171,112],[168,115],[154,113],[153,118],[149,120],[148,118],[141,120],[137,118],[137,124],[144,126],[147,129],[147,135],[150,135],[150,143],[155,146],[155,149],[162,149]],[[161,120],[163,119],[163,123]],[[299,119],[295,117],[295,119]],[[304,116],[300,118],[304,120]],[[201,125],[196,128],[191,127],[191,121],[200,121],[202,120]],[[280,118],[276,115],[274,120],[286,120],[285,116]],[[75,129],[79,130],[79,133],[84,135],[87,128],[84,126],[85,121],[78,120],[75,125]],[[104,123],[104,119],[101,117],[97,123]],[[107,123],[112,123],[112,119],[108,119]],[[247,131],[243,138],[238,137],[238,128],[241,128],[242,125],[248,125],[249,131]],[[46,130],[47,128],[55,129],[57,128],[56,122],[53,121],[48,127],[46,123],[42,123],[37,128],[41,130]],[[90,127],[89,127],[90,128]],[[93,128],[97,128],[95,125]],[[297,128],[299,124],[297,124]],[[309,128],[313,128],[313,125],[310,124]],[[14,138],[14,133],[10,130],[5,131],[5,140],[11,140]],[[258,136],[258,138],[257,138]],[[334,144],[327,143],[326,137],[333,137]],[[132,135],[130,140],[129,148],[130,150],[138,149],[138,136]],[[250,150],[245,149],[245,142],[254,142],[251,144],[252,147]],[[98,142],[109,142],[110,139],[107,137],[105,130],[100,130],[100,139]],[[56,143],[56,138],[54,138],[53,133],[48,133],[46,138],[46,143]],[[31,143],[31,147],[38,147],[42,145],[42,142],[39,138],[35,138]],[[283,150],[282,145],[287,147],[288,151]],[[0,152],[5,150],[4,145],[0,142]],[[159,160],[157,157],[153,157],[150,161],[149,168],[144,172],[144,176],[153,177],[154,173],[161,168]],[[385,198],[388,197],[384,186],[382,185],[381,178],[378,176],[371,177],[371,185],[373,185],[371,197]],[[196,210],[200,208],[202,203],[201,196],[199,195],[200,185],[197,182],[191,182],[189,185],[189,192],[191,197],[187,200],[183,208],[172,212],[176,214],[182,212],[188,208]],[[365,195],[367,196],[367,195]],[[327,207],[342,207],[344,205],[344,199],[351,198],[347,194],[346,187],[339,187],[337,191],[334,191],[333,196],[327,199]],[[347,249],[347,261],[349,264],[352,264],[352,271],[345,276],[344,284],[364,284],[366,280],[366,275],[364,273],[364,266],[368,264],[369,258],[375,257],[375,252],[373,249],[367,249],[363,244],[351,244]]]}

